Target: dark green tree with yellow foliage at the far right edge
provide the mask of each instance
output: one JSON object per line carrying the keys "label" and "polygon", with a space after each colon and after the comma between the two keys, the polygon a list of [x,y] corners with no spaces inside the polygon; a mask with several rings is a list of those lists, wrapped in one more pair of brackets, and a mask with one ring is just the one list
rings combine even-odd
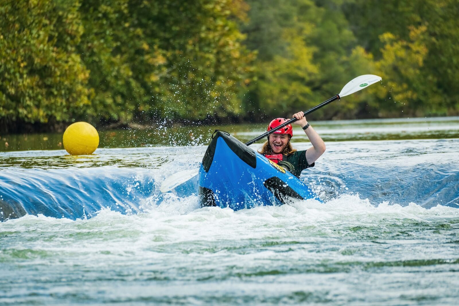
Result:
{"label": "dark green tree with yellow foliage at the far right edge", "polygon": [[[343,10],[388,84],[381,116],[459,114],[457,1],[355,0]],[[403,113],[397,103],[406,106]]]}

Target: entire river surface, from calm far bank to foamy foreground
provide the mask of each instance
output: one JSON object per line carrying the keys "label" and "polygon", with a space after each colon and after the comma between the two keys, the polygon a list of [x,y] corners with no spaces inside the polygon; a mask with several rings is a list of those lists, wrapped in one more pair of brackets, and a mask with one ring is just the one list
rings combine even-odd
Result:
{"label": "entire river surface, from calm far bank to foamy foreground", "polygon": [[0,135],[0,305],[457,305],[459,117],[310,123],[323,202],[241,211],[159,186],[263,125],[107,131],[92,156]]}

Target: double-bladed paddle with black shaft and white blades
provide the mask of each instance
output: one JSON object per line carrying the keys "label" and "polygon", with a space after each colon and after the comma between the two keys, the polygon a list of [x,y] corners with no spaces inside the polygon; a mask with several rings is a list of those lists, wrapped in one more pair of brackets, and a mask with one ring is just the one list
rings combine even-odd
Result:
{"label": "double-bladed paddle with black shaft and white blades", "polygon": [[[334,97],[332,97],[332,98],[320,103],[319,105],[314,106],[313,108],[305,111],[304,112],[304,116],[312,113],[313,111],[317,111],[319,108],[324,107],[325,105],[327,105],[327,104],[329,104],[329,103],[331,103],[331,102],[333,102],[335,100],[340,100],[342,97],[345,97],[347,95],[351,95],[351,94],[353,94],[353,93],[355,93],[355,92],[357,92],[359,90],[367,88],[369,85],[381,81],[381,79],[382,79],[381,77],[378,77],[377,75],[374,75],[374,74],[364,74],[364,75],[358,76],[357,78],[354,78],[349,83],[344,85],[343,89],[341,89],[341,92],[339,94],[337,94]],[[283,124],[278,126],[275,130],[272,129],[272,130],[270,130],[270,131],[258,136],[257,138],[254,138],[254,139],[246,142],[246,145],[252,145],[254,142],[257,142],[258,140],[265,138],[269,134],[272,134],[275,131],[277,131],[278,129],[283,128],[283,127],[285,127],[285,126],[287,126],[287,125],[289,125],[289,124],[291,124],[292,122],[295,122],[295,121],[297,121],[297,118],[292,118],[289,121],[284,122]],[[161,192],[162,193],[168,192],[168,191],[174,189],[175,187],[179,186],[180,184],[185,183],[189,179],[195,177],[198,174],[198,171],[199,171],[199,169],[189,169],[189,170],[180,171],[180,172],[177,172],[177,173],[171,175],[166,180],[164,180],[164,182],[162,183],[161,189],[160,189]]]}

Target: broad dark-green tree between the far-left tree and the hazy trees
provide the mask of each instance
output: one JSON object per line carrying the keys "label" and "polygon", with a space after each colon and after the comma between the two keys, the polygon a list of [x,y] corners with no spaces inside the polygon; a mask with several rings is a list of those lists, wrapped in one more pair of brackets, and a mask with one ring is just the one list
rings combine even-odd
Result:
{"label": "broad dark-green tree between the far-left tree and the hazy trees", "polygon": [[233,0],[84,2],[80,52],[94,116],[202,119],[238,113],[252,55]]}

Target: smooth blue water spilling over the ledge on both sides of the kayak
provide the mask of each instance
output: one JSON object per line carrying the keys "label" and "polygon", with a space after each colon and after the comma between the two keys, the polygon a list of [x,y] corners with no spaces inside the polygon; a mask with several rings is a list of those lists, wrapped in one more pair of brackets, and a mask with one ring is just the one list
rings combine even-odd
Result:
{"label": "smooth blue water spilling over the ledge on both sides of the kayak", "polygon": [[[327,205],[344,195],[358,195],[372,207],[416,203],[423,208],[459,208],[458,144],[455,139],[331,143],[301,179]],[[306,149],[310,144],[296,145]],[[27,214],[76,220],[95,217],[103,209],[130,215],[159,206],[189,213],[199,208],[196,182],[176,194],[162,194],[159,187],[177,171],[197,169],[204,150],[104,149],[98,156],[77,160],[67,156],[61,166],[54,164],[60,158],[56,152],[40,151],[45,156],[40,167],[27,166],[37,158],[30,152],[9,153],[12,166],[0,172],[0,220]],[[346,210],[353,204],[341,205]]]}

